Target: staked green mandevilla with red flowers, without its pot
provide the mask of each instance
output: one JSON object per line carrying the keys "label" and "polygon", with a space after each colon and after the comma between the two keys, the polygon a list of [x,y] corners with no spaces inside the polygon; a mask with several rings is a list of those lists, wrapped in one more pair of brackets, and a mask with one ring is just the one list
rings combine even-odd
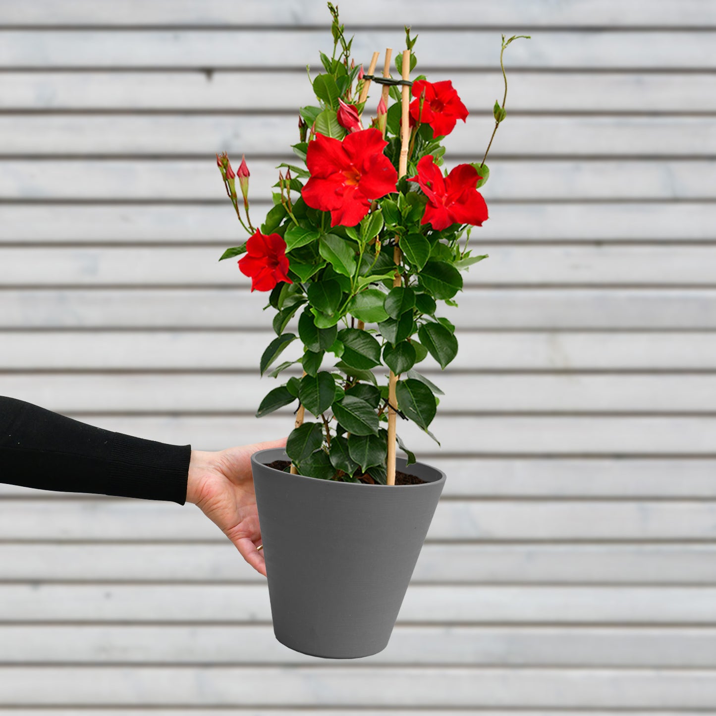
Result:
{"label": "staked green mandevilla with red flowers, without its pot", "polygon": [[[217,155],[236,216],[251,235],[221,259],[241,256],[251,291],[271,291],[276,338],[261,356],[261,375],[302,368],[302,377],[271,390],[256,413],[298,402],[286,444],[291,472],[392,485],[396,442],[407,464],[415,462],[395,432],[396,415],[433,437],[442,395],[417,367],[430,354],[444,369],[458,353],[455,326],[438,306],[457,306],[460,271],[486,258],[468,241],[488,218],[478,191],[489,176],[488,152],[445,173],[441,142],[469,114],[452,82],[424,75],[410,82],[417,36],[408,27],[407,49],[396,57],[402,79],[390,77],[390,50],[383,77],[373,75],[377,52],[364,74],[350,57],[353,39],[345,38],[337,7],[328,6],[333,54],[321,52],[325,71],[311,82],[316,103],[301,107],[293,145],[305,167],[279,165],[274,207],[259,228],[249,218],[246,161],[235,174],[226,153]],[[505,119],[503,52],[514,39],[503,36],[505,96],[495,102],[493,137]],[[367,121],[371,82],[382,85],[382,96]],[[288,329],[296,317],[297,335]],[[296,339],[302,357],[276,364]]]}

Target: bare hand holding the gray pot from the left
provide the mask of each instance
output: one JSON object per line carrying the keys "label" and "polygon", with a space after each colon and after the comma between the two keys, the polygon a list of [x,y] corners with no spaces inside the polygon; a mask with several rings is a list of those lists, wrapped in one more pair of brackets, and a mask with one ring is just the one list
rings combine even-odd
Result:
{"label": "bare hand holding the gray pot from the left", "polygon": [[283,448],[286,438],[243,445],[218,453],[191,451],[186,501],[198,508],[233,542],[241,556],[266,576],[266,560],[258,526],[251,455],[257,450]]}

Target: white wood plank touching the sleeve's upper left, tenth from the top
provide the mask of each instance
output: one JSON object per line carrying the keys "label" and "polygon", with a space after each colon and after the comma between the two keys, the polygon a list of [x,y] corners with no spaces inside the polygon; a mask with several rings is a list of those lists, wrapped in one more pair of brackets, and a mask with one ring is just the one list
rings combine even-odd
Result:
{"label": "white wood plank touching the sleeve's upper left, tenth from the top", "polygon": [[[257,354],[268,342],[261,342]],[[281,359],[297,359],[301,346],[294,343]],[[329,370],[335,360],[324,361]],[[253,415],[264,395],[281,381],[249,374],[0,374],[0,395],[14,395],[57,412],[212,413]],[[385,382],[387,369],[376,369]],[[445,392],[440,410],[448,413],[570,412],[705,413],[716,405],[716,375],[431,375]],[[276,415],[291,415],[297,403]],[[400,406],[399,406],[400,407]]]}

